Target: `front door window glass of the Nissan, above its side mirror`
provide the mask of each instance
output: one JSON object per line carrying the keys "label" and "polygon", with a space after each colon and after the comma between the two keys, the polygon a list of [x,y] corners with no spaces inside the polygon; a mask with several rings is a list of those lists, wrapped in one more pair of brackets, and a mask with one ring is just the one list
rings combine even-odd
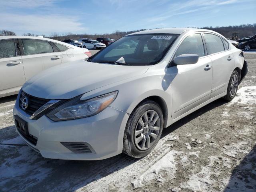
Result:
{"label": "front door window glass of the Nissan, above its side mirror", "polygon": [[205,56],[201,34],[193,34],[183,40],[176,51],[176,57],[182,54],[197,54],[199,57]]}

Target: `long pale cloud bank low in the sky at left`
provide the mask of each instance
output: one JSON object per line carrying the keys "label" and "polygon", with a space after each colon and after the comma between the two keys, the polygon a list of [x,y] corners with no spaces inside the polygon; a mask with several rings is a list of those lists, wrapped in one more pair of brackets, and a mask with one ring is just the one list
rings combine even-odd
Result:
{"label": "long pale cloud bank low in the sky at left", "polygon": [[88,28],[84,27],[76,17],[58,14],[2,14],[0,13],[1,28],[14,32],[31,32],[40,34],[51,34],[52,32],[81,32]]}

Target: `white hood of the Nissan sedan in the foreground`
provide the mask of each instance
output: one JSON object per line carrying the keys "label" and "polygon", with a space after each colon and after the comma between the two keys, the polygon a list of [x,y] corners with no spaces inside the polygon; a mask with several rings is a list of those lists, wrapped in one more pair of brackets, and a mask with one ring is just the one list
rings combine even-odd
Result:
{"label": "white hood of the Nissan sedan in the foreground", "polygon": [[148,66],[122,66],[80,60],[44,70],[28,80],[22,90],[39,98],[70,99],[142,75],[147,69]]}

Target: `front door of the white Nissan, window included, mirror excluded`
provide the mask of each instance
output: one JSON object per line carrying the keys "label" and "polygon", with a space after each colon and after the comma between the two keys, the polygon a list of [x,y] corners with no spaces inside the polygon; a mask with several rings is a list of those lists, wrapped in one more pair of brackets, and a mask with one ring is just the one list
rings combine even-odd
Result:
{"label": "front door of the white Nissan, window included, mirror excluded", "polygon": [[176,65],[168,68],[172,79],[172,119],[192,110],[210,99],[212,88],[212,61],[205,56],[200,33],[186,37],[175,56],[197,54],[196,64]]}

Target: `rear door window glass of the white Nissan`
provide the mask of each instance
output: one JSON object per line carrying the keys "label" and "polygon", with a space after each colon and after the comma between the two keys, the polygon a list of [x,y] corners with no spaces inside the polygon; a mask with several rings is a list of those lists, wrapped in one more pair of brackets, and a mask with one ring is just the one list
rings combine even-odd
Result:
{"label": "rear door window glass of the white Nissan", "polygon": [[206,41],[208,55],[224,51],[224,46],[219,36],[205,33],[204,39]]}

